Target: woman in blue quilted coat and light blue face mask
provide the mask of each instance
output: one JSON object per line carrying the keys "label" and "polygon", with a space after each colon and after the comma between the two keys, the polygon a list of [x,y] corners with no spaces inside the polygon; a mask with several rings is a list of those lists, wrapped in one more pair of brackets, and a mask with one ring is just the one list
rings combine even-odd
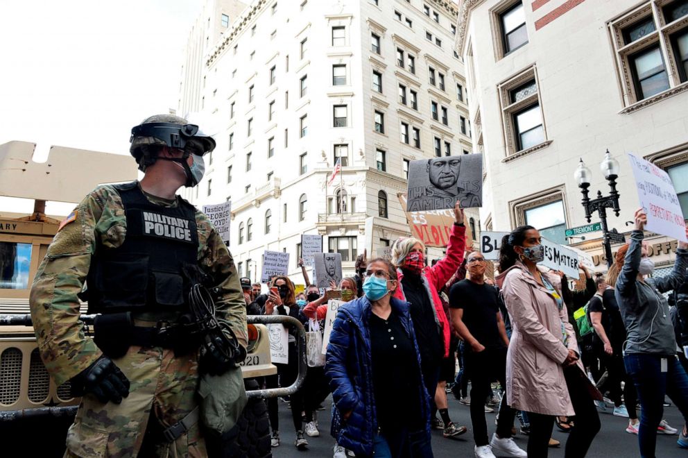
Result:
{"label": "woman in blue quilted coat and light blue face mask", "polygon": [[365,296],[339,307],[329,337],[333,434],[356,457],[433,456],[418,343],[408,303],[392,297],[397,287],[394,266],[372,260]]}

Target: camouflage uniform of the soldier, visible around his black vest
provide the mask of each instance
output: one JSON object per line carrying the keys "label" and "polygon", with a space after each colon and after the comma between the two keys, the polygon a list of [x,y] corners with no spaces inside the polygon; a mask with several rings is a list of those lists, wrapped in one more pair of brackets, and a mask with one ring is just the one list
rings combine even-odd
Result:
{"label": "camouflage uniform of the soldier, visible around his black vest", "polygon": [[[146,194],[151,203],[177,205]],[[31,314],[40,355],[57,384],[62,384],[101,356],[79,321],[77,294],[89,271],[91,256],[101,247],[117,248],[126,235],[123,203],[112,186],[101,186],[78,205],[48,248],[31,289]],[[69,221],[69,219],[67,220]],[[239,343],[246,347],[246,307],[229,251],[205,214],[196,212],[198,265],[219,289],[216,316],[229,323]],[[175,316],[134,314],[135,324],[152,325]],[[128,457],[139,453],[148,422],[169,427],[196,407],[198,355],[175,357],[172,350],[131,346],[113,359],[130,380],[130,394],[119,405],[103,404],[87,394],[82,398],[74,425],[67,436],[67,453],[73,457]],[[153,416],[150,414],[153,413]],[[146,456],[206,456],[198,425],[173,443],[156,441]]]}

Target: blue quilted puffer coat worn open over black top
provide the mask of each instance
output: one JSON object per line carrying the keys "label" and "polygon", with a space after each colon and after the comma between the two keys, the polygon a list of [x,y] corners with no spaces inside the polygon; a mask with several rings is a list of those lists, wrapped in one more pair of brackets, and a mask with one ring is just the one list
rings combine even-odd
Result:
{"label": "blue quilted puffer coat worn open over black top", "polygon": [[[422,399],[421,412],[425,416],[425,430],[430,437],[430,398],[422,382],[420,353],[411,316],[408,314],[408,303],[391,298],[390,305],[402,321],[406,334],[413,340],[421,380],[418,396]],[[329,378],[336,407],[333,409],[332,435],[340,446],[363,456],[372,455],[373,439],[378,428],[372,387],[372,355],[368,330],[370,314],[370,300],[365,296],[339,307],[329,337],[325,363],[325,373]],[[390,383],[394,381],[390,380]],[[399,402],[408,401],[399,399]],[[353,412],[348,420],[344,420],[341,413],[349,410]]]}

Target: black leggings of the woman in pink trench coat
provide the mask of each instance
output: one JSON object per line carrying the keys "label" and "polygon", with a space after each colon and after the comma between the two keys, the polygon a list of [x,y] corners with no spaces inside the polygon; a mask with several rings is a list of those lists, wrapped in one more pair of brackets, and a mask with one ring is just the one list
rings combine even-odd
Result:
{"label": "black leggings of the woman in pink trench coat", "polygon": [[[580,368],[569,366],[564,368],[566,387],[569,389],[571,403],[574,405],[574,427],[571,428],[569,439],[566,441],[566,458],[585,457],[592,439],[600,430],[600,418],[597,408],[587,388],[578,377],[576,371]],[[547,457],[549,453],[549,439],[552,436],[554,416],[528,412],[531,421],[531,434],[528,436],[528,458]]]}

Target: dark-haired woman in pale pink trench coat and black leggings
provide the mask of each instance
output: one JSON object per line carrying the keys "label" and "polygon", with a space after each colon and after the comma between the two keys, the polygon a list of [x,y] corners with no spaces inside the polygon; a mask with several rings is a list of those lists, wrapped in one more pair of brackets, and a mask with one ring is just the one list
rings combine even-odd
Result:
{"label": "dark-haired woman in pale pink trench coat and black leggings", "polygon": [[555,416],[576,415],[565,456],[584,457],[600,428],[558,275],[542,273],[540,233],[517,228],[501,244],[497,285],[513,334],[506,360],[508,405],[528,412],[528,457],[547,457]]}

